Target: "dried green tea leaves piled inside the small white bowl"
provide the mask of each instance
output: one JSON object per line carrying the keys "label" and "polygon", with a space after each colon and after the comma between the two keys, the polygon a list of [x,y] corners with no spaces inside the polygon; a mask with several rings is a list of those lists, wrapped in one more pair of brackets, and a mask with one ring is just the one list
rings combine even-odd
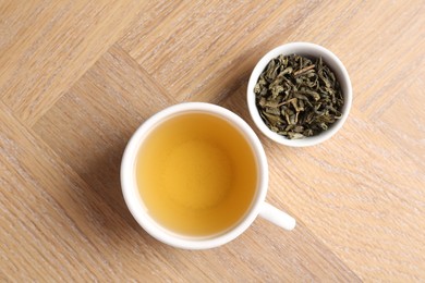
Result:
{"label": "dried green tea leaves piled inside the small white bowl", "polygon": [[316,135],[342,115],[341,87],[321,58],[316,62],[298,54],[272,59],[254,94],[266,125],[290,139]]}

